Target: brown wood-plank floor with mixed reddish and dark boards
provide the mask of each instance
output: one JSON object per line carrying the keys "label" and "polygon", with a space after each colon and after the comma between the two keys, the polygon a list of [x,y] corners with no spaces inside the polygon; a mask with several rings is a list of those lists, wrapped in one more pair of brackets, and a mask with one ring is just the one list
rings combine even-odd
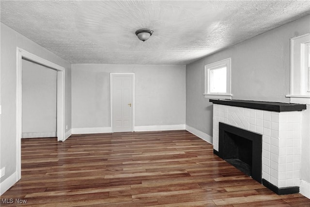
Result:
{"label": "brown wood-plank floor with mixed reddish and dark boards", "polygon": [[1,206],[15,199],[32,207],[310,207],[299,193],[268,190],[185,130],[23,139],[22,178]]}

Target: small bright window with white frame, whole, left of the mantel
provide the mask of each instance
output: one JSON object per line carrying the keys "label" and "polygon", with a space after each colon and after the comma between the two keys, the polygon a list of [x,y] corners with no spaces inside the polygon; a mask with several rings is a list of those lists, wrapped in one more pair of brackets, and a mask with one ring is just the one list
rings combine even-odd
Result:
{"label": "small bright window with white frame, whole, left of the mantel", "polygon": [[231,99],[231,58],[204,66],[206,98]]}

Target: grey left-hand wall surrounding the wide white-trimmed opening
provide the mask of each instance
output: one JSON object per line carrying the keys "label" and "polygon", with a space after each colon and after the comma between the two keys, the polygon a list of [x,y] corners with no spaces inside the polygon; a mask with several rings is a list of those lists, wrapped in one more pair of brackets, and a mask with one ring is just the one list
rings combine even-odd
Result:
{"label": "grey left-hand wall surrounding the wide white-trimmed opening", "polygon": [[[44,58],[65,68],[65,124],[71,128],[71,64],[3,23],[1,27],[1,134],[0,168],[5,167],[1,187],[14,181],[16,175],[16,47]],[[16,181],[16,180],[15,180]],[[1,190],[2,191],[2,190]]]}

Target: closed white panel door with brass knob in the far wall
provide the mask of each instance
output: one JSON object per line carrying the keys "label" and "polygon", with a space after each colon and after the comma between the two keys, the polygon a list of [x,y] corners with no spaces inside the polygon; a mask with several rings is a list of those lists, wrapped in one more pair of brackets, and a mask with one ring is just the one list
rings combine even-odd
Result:
{"label": "closed white panel door with brass knob in the far wall", "polygon": [[112,132],[133,131],[134,74],[111,73]]}

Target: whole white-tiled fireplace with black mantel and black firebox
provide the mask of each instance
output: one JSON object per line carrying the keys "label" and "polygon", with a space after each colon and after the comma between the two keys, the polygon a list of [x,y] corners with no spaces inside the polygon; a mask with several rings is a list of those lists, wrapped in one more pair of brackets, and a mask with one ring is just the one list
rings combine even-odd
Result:
{"label": "whole white-tiled fireplace with black mantel and black firebox", "polygon": [[[278,194],[299,192],[300,111],[305,110],[306,105],[227,99],[210,99],[210,102],[213,102],[214,153],[219,157],[224,155],[223,159],[227,159],[227,153],[233,154],[233,162],[241,161],[246,167],[248,165],[250,172],[246,174]],[[222,125],[226,128],[221,129]],[[240,134],[236,129],[244,131]],[[249,138],[254,137],[254,134],[242,134],[249,132],[258,134],[261,138]],[[261,140],[261,144],[253,143],[257,140]],[[233,149],[227,144],[239,146]],[[252,149],[244,151],[250,145]],[[245,159],[250,156],[249,151],[252,152],[251,159]],[[248,155],[243,156],[245,153]],[[258,155],[260,158],[257,160],[261,161],[253,161],[253,157]]]}

